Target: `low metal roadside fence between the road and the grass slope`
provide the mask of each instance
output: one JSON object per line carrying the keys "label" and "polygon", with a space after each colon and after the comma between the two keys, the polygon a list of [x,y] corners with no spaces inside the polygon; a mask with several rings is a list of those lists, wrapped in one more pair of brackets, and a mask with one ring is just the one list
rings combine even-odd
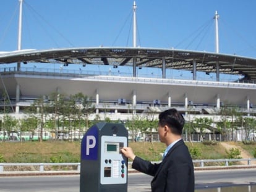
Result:
{"label": "low metal roadside fence between the road and the grass slope", "polygon": [[[159,163],[159,162],[153,162]],[[240,167],[248,167],[249,165],[255,165],[256,159],[201,159],[194,160],[194,167],[234,167],[239,165]],[[128,167],[130,169],[132,162],[129,162]],[[213,165],[215,164],[215,165]],[[216,165],[218,164],[218,165]],[[33,169],[31,169],[33,167]],[[10,170],[11,168],[11,170]],[[77,172],[80,173],[80,163],[0,163],[1,173],[47,173],[47,172]]]}

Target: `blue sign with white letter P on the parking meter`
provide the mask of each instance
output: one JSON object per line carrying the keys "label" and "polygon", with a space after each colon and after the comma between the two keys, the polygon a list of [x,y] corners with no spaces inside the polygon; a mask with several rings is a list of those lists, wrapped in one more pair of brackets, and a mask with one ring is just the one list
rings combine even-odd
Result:
{"label": "blue sign with white letter P on the parking meter", "polygon": [[98,159],[98,129],[90,128],[83,136],[81,148],[81,160]]}

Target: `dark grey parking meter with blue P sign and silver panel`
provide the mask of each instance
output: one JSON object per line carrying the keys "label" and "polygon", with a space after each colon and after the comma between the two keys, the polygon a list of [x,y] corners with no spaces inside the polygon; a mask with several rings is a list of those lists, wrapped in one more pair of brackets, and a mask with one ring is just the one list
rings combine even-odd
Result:
{"label": "dark grey parking meter with blue P sign and silver panel", "polygon": [[128,132],[121,123],[96,123],[81,143],[80,192],[126,192]]}

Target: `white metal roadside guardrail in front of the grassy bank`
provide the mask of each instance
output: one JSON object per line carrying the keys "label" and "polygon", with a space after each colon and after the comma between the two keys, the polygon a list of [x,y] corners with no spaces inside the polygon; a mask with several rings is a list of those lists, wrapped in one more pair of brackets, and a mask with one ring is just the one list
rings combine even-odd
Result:
{"label": "white metal roadside guardrail in front of the grassy bank", "polygon": [[[246,162],[246,164],[239,165],[239,167],[248,167],[248,165],[254,165],[256,167],[256,159],[201,159],[201,160],[194,160],[194,166],[195,167],[234,167],[231,165],[231,162]],[[223,165],[219,166],[212,166],[212,165],[205,165],[205,163],[209,162],[223,162]],[[255,162],[252,164],[252,162]],[[160,163],[160,162],[153,162],[153,163]],[[131,167],[132,162],[129,162],[128,165]],[[50,172],[77,172],[80,173],[80,163],[0,163],[0,174],[1,173],[10,173],[10,172],[49,172],[48,170],[45,170],[45,167],[56,167],[58,166],[58,170],[52,168]],[[67,170],[67,167],[71,167],[71,169]],[[14,167],[15,169],[6,170],[7,167]],[[34,167],[35,170],[16,170],[17,167]],[[237,167],[237,165],[235,165]],[[37,170],[36,170],[37,169]]]}

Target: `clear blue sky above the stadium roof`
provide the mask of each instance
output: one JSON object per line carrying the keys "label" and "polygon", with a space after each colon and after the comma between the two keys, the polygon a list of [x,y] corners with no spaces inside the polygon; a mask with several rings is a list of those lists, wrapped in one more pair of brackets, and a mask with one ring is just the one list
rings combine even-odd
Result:
{"label": "clear blue sky above the stadium roof", "polygon": [[[22,49],[132,47],[133,0],[23,0]],[[254,0],[137,0],[137,44],[256,57]],[[19,0],[0,1],[0,51],[17,50]]]}

